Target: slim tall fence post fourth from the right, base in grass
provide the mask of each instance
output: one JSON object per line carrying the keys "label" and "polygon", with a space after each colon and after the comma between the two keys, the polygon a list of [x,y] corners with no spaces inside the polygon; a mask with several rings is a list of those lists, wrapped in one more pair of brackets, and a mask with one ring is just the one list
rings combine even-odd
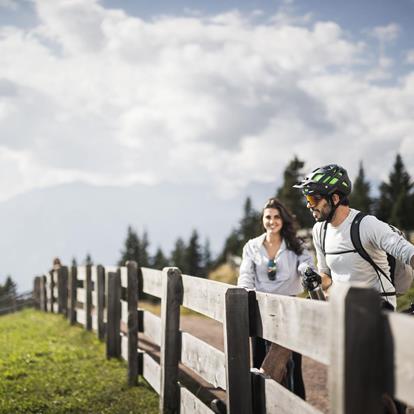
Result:
{"label": "slim tall fence post fourth from the right, base in grass", "polygon": [[138,385],[138,266],[126,263],[128,271],[128,385]]}

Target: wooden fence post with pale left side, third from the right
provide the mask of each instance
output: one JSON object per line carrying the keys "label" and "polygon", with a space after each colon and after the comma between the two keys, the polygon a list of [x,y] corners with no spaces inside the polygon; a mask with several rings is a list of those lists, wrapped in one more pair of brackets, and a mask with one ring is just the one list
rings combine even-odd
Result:
{"label": "wooden fence post with pale left side, third from the right", "polygon": [[181,356],[180,305],[183,282],[177,268],[164,268],[161,297],[160,412],[179,411],[178,362]]}

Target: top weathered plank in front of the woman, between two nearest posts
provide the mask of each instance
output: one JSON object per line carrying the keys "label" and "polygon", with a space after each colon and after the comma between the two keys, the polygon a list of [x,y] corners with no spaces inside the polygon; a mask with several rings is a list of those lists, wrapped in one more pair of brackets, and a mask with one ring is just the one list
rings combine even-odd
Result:
{"label": "top weathered plank in front of the woman, between two nearest posts", "polygon": [[257,336],[329,364],[328,302],[256,292],[254,313]]}

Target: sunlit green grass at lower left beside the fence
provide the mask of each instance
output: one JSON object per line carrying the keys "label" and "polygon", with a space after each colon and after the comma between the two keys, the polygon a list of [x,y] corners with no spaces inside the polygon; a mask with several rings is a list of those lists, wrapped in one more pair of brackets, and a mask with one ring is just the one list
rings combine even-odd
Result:
{"label": "sunlit green grass at lower left beside the fence", "polygon": [[155,414],[158,395],[104,344],[61,316],[24,310],[0,317],[0,413]]}

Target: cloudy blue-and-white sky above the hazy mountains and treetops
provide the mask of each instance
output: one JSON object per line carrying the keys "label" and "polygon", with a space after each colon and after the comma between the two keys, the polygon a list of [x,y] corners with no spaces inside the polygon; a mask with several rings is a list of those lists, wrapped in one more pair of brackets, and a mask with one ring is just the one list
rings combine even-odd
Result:
{"label": "cloudy blue-and-white sky above the hazy mountains and treetops", "polygon": [[413,176],[413,18],[414,0],[0,0],[0,202],[74,182],[231,199],[295,155],[378,185],[400,153]]}

